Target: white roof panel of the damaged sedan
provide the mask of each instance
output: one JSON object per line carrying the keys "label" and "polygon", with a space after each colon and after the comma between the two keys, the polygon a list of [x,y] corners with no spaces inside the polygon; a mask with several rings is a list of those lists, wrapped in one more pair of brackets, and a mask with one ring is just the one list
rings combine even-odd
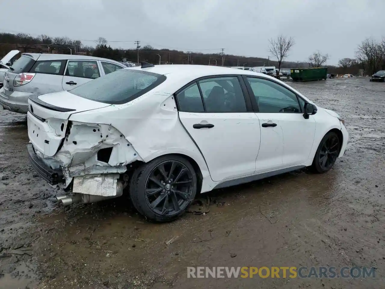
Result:
{"label": "white roof panel of the damaged sedan", "polygon": [[166,75],[167,77],[172,76],[173,79],[178,78],[186,79],[186,75],[191,78],[191,80],[197,79],[199,77],[205,76],[215,76],[215,75],[253,75],[253,76],[263,76],[266,78],[273,78],[266,76],[260,72],[247,71],[243,69],[235,69],[230,67],[223,66],[208,66],[208,65],[191,65],[191,64],[163,64],[155,65],[153,67],[141,68],[140,66],[131,67],[129,69],[139,69],[143,71],[153,72],[157,74]]}

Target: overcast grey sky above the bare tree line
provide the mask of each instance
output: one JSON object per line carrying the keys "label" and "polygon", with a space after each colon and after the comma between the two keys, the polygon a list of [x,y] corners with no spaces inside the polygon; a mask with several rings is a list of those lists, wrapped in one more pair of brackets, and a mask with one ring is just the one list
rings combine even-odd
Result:
{"label": "overcast grey sky above the bare tree line", "polygon": [[266,58],[268,39],[283,34],[295,39],[287,60],[320,50],[328,64],[354,57],[366,37],[385,36],[383,0],[18,0],[1,7],[1,32]]}

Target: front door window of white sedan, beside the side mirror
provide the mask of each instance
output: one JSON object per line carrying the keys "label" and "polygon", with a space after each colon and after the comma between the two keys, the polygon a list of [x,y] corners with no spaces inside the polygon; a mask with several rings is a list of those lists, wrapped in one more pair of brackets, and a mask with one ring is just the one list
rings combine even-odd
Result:
{"label": "front door window of white sedan, beside the side mirror", "polygon": [[246,77],[259,113],[301,113],[297,96],[286,87],[268,79]]}

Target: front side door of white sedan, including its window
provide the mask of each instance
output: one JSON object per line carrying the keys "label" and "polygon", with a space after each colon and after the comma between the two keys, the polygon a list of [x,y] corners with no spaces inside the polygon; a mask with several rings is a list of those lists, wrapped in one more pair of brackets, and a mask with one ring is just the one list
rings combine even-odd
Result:
{"label": "front side door of white sedan, including its window", "polygon": [[276,81],[245,76],[261,123],[256,173],[301,165],[313,146],[316,122],[303,117],[305,101]]}

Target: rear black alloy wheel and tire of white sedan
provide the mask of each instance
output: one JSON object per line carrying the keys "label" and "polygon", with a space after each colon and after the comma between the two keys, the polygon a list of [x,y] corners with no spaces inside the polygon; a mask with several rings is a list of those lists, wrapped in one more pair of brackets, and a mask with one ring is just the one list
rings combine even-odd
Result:
{"label": "rear black alloy wheel and tire of white sedan", "polygon": [[184,214],[197,188],[191,163],[182,156],[166,155],[137,168],[129,192],[132,204],[147,220],[169,222]]}

